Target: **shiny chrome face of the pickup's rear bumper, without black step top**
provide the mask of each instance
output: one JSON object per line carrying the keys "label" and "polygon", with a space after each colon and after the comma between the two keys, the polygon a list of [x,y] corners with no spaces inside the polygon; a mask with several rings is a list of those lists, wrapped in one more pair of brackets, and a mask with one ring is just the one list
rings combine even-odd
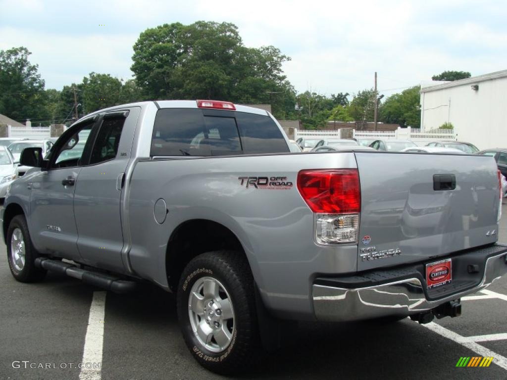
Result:
{"label": "shiny chrome face of the pickup's rear bumper, without black step top", "polygon": [[313,284],[315,316],[321,321],[339,322],[408,316],[434,309],[447,301],[476,293],[507,273],[507,247],[504,248],[501,253],[485,259],[484,275],[479,283],[439,299],[428,299],[425,284],[416,277],[358,288]]}

